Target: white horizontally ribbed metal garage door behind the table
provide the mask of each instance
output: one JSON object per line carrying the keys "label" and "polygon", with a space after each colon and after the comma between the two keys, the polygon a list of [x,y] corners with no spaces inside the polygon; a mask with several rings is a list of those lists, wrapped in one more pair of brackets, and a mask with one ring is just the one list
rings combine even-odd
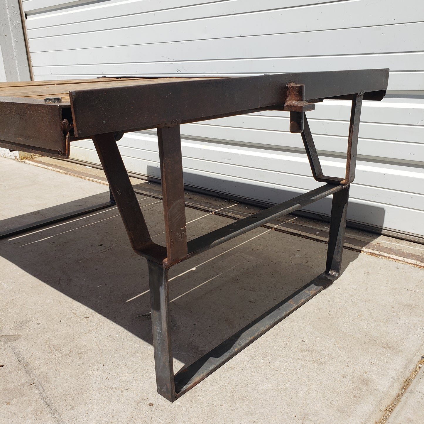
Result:
{"label": "white horizontally ribbed metal garage door behind the table", "polygon": [[[389,93],[399,97],[363,104],[348,218],[424,237],[421,0],[401,8],[397,0],[23,0],[23,8],[36,80],[390,67]],[[327,174],[343,175],[349,111],[349,102],[329,100],[308,114]],[[268,203],[317,187],[287,121],[261,112],[181,126],[185,183]],[[125,134],[120,150],[129,171],[159,177],[154,131]],[[98,163],[90,141],[71,152]],[[329,201],[308,210],[328,213]]]}

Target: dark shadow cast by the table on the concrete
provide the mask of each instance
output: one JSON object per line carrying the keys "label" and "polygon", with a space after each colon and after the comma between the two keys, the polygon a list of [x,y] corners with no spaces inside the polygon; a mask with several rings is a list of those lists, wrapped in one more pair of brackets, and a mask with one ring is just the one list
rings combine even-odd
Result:
{"label": "dark shadow cast by the table on the concrete", "polygon": [[[80,207],[109,193],[78,202]],[[163,237],[162,202],[139,196],[151,234]],[[57,212],[63,211],[63,206]],[[192,234],[228,218],[187,209]],[[42,211],[49,216],[54,208]],[[25,223],[28,216],[24,217]],[[20,217],[7,221],[18,225]],[[0,222],[1,225],[5,222]],[[159,241],[159,240],[155,240]],[[0,241],[1,256],[47,285],[152,343],[148,270],[116,207]],[[347,253],[347,254],[346,254]],[[343,268],[358,253],[345,251]],[[173,356],[190,364],[324,271],[326,244],[258,228],[170,271]]]}

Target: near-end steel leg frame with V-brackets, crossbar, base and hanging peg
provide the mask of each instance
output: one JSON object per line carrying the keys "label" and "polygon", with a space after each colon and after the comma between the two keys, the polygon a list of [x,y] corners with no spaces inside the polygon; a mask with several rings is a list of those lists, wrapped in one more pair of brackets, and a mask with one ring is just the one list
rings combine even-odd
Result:
{"label": "near-end steel leg frame with V-brackets, crossbar, base and hanging peg", "polygon": [[[303,92],[303,89],[300,89],[299,92]],[[322,173],[308,121],[304,116],[304,109],[312,110],[313,107],[306,104],[304,99],[287,100],[284,106],[285,110],[295,109],[294,114],[290,111],[290,130],[299,132],[301,128],[301,136],[310,161],[312,175],[315,180],[326,182],[326,184],[188,242],[179,125],[158,128],[166,248],[153,243],[150,238],[113,134],[100,134],[92,138],[131,245],[137,254],[148,259],[156,385],[158,393],[170,402],[201,382],[237,352],[324,290],[340,275],[349,187],[354,178],[362,98],[363,92],[360,92],[352,100],[345,179],[324,176]],[[292,124],[293,121],[294,124]],[[169,268],[329,195],[333,195],[333,200],[325,271],[215,349],[174,375],[169,315]]]}

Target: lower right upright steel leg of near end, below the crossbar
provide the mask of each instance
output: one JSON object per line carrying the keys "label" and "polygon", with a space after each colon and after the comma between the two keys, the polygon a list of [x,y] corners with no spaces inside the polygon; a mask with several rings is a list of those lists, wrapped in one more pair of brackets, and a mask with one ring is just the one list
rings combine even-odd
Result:
{"label": "lower right upright steel leg of near end, below the crossbar", "polygon": [[349,188],[346,186],[333,194],[331,206],[330,231],[327,248],[326,273],[338,277],[343,254],[343,242],[346,229],[347,206],[349,202]]}

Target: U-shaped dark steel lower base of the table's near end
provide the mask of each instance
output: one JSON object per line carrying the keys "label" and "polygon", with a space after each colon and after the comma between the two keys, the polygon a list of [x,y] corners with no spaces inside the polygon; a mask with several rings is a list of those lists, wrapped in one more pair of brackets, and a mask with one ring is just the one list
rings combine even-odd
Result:
{"label": "U-shaped dark steel lower base of the table's near end", "polygon": [[333,194],[326,270],[175,376],[170,334],[168,268],[148,261],[153,348],[159,394],[173,402],[338,278],[348,201],[349,186]]}

